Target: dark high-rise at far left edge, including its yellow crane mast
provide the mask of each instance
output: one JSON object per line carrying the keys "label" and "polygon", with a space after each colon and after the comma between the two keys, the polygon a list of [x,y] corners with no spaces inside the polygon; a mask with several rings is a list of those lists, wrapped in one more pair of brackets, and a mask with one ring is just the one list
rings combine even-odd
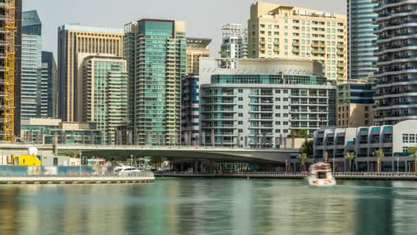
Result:
{"label": "dark high-rise at far left edge, including its yellow crane mast", "polygon": [[22,1],[0,4],[0,139],[20,135]]}

